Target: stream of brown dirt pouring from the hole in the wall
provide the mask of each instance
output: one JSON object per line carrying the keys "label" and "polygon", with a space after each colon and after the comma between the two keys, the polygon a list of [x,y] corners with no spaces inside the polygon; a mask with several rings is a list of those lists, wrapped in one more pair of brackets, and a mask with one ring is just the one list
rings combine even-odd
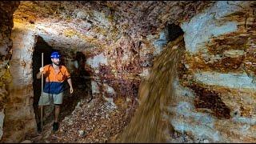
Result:
{"label": "stream of brown dirt pouring from the hole in the wall", "polygon": [[155,60],[149,78],[139,89],[140,106],[118,142],[166,142],[172,126],[165,116],[170,115],[167,108],[174,98],[173,82],[183,51],[183,36],[179,36]]}

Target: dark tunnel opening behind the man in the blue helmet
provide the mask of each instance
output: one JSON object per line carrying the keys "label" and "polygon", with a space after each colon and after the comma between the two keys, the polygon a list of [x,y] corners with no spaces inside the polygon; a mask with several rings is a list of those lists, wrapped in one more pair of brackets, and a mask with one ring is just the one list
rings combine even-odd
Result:
{"label": "dark tunnel opening behind the man in the blue helmet", "polygon": [[[42,66],[42,53],[43,53],[43,66],[51,64],[50,54],[54,51],[58,51],[62,55],[61,65],[66,66],[67,70],[71,75],[71,80],[74,88],[74,93],[70,94],[70,86],[67,81],[64,83],[64,98],[61,105],[61,111],[58,117],[58,122],[70,115],[78,102],[85,100],[90,102],[92,100],[92,90],[90,85],[90,74],[86,71],[86,56],[82,52],[71,53],[67,55],[65,51],[54,50],[53,47],[49,46],[42,37],[38,36],[38,40],[34,47],[33,53],[33,88],[34,88],[34,113],[36,122],[40,122],[40,110],[38,110],[38,101],[42,91],[42,80],[36,78],[36,74],[39,72],[39,68]],[[70,59],[72,65],[70,66]],[[43,86],[45,86],[46,78],[44,77]],[[44,106],[43,125],[50,126],[49,124],[54,122],[54,105]],[[44,128],[47,129],[47,128]],[[49,127],[51,129],[51,127]]]}

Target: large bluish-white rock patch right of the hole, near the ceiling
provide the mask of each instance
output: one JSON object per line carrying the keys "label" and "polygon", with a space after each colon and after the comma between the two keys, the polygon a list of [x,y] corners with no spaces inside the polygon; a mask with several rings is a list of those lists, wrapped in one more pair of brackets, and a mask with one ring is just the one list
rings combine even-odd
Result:
{"label": "large bluish-white rock patch right of the hole, near the ceiling", "polygon": [[[235,5],[246,5],[246,2],[236,2]],[[210,38],[222,34],[229,34],[237,30],[238,23],[235,21],[222,22],[218,25],[216,19],[241,10],[242,7],[236,7],[230,2],[216,2],[214,6],[209,7],[204,13],[197,14],[189,22],[182,23],[184,31],[184,41],[186,50],[192,54],[197,54],[199,49],[206,47],[205,43]]]}

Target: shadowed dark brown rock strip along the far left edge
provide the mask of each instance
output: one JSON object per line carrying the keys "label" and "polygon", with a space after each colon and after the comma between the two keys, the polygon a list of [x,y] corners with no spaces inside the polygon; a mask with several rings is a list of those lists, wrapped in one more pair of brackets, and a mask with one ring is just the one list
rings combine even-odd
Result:
{"label": "shadowed dark brown rock strip along the far left edge", "polygon": [[10,92],[10,58],[12,41],[10,39],[11,29],[13,27],[13,13],[18,8],[19,2],[0,2],[0,139],[5,131],[2,130],[4,119],[6,118],[6,99]]}

